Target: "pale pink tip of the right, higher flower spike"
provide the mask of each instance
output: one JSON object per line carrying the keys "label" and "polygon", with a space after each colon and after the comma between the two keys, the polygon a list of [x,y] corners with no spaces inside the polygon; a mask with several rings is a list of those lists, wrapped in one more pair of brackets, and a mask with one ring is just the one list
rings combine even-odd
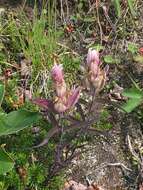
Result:
{"label": "pale pink tip of the right, higher flower spike", "polygon": [[91,63],[94,62],[96,64],[100,64],[99,60],[99,52],[96,50],[92,50],[91,48],[88,50],[87,54],[87,64],[90,67]]}

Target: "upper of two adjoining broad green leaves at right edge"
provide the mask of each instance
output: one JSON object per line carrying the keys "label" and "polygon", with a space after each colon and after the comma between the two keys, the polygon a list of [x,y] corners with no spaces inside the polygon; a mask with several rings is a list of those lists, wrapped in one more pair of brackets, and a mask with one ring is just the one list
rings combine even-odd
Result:
{"label": "upper of two adjoining broad green leaves at right edge", "polygon": [[122,93],[122,95],[126,96],[128,98],[133,98],[133,99],[142,99],[143,98],[143,92],[136,88],[127,89]]}

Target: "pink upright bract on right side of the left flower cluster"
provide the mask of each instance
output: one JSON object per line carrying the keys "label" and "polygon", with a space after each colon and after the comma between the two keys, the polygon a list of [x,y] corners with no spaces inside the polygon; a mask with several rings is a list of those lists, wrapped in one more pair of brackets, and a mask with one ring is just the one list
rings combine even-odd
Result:
{"label": "pink upright bract on right side of the left flower cluster", "polygon": [[80,87],[71,91],[71,95],[69,96],[67,100],[68,109],[73,107],[78,102],[79,97],[80,97],[80,91],[81,91]]}

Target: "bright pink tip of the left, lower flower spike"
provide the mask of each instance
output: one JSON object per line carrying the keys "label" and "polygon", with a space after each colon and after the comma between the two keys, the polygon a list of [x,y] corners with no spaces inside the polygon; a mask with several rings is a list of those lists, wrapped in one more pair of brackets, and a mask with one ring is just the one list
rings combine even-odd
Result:
{"label": "bright pink tip of the left, lower flower spike", "polygon": [[52,67],[51,75],[52,75],[52,79],[53,79],[54,82],[56,82],[56,83],[63,82],[64,74],[63,74],[62,64],[60,64],[60,65],[55,64]]}

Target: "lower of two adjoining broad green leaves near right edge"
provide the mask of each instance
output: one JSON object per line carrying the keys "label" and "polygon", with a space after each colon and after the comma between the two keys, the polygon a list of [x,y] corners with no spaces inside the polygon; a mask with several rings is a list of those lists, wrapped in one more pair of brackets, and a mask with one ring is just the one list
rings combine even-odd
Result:
{"label": "lower of two adjoining broad green leaves near right edge", "polygon": [[137,106],[141,104],[141,99],[129,99],[123,106],[123,110],[127,113],[132,112]]}

